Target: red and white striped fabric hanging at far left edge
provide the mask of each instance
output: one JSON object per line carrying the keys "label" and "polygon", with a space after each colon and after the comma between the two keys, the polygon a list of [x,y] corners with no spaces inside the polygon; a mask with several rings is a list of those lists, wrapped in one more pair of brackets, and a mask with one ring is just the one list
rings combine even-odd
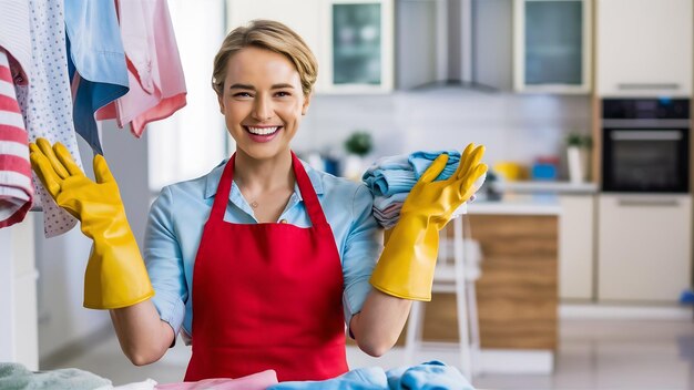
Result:
{"label": "red and white striped fabric hanging at far left edge", "polygon": [[8,55],[0,48],[0,228],[24,219],[31,207],[28,142]]}

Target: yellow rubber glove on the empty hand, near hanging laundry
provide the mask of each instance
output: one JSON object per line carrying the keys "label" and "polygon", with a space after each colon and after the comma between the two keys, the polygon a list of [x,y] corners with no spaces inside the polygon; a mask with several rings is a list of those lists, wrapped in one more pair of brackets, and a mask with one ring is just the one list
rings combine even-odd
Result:
{"label": "yellow rubber glove on the empty hand, near hanging laundry", "polygon": [[51,147],[38,138],[29,147],[31,166],[45,189],[94,242],[84,275],[84,307],[116,309],[151,298],[154,289],[104,157],[94,156],[93,182],[61,143]]}

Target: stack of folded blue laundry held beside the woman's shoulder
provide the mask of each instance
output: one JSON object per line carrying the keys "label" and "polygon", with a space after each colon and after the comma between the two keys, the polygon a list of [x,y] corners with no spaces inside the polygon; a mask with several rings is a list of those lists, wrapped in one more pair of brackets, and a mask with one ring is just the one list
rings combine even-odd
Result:
{"label": "stack of folded blue laundry held beside the woman's shoulder", "polygon": [[[448,162],[435,181],[445,181],[458,168],[458,151],[419,151],[381,157],[364,173],[361,179],[374,194],[374,216],[380,226],[389,229],[397,224],[405,198],[429,165],[442,153],[448,154]],[[481,182],[483,177],[476,183],[478,188]]]}

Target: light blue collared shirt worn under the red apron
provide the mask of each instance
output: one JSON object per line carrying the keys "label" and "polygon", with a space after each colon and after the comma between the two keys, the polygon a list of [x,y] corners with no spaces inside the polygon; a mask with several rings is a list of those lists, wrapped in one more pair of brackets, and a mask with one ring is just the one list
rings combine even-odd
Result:
{"label": "light blue collared shirt worn under the red apron", "polygon": [[[144,258],[155,291],[152,301],[175,333],[183,326],[184,339],[193,330],[193,265],[224,164],[205,176],[162,188],[150,211]],[[371,290],[368,280],[382,249],[381,230],[371,214],[374,198],[364,184],[315,171],[305,163],[304,167],[333,228],[343,265],[345,320],[349,324]],[[278,220],[282,219],[310,226],[298,185]],[[236,183],[232,185],[224,220],[257,223]]]}

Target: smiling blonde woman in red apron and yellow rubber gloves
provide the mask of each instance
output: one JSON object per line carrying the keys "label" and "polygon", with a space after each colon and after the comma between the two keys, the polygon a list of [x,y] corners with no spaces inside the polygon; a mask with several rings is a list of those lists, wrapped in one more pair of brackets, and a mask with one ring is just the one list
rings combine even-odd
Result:
{"label": "smiling blonde woman in red apron and yellow rubber gloves", "polygon": [[438,232],[484,173],[483,147],[469,145],[438,182],[448,156],[436,158],[384,248],[369,189],[292,152],[316,72],[310,50],[282,23],[256,20],[226,37],[212,86],[236,153],[162,189],[144,264],[105,160],[95,157],[92,182],[62,145],[31,146],[39,177],[94,242],[85,305],[111,310],[133,363],[159,360],[181,332],[193,343],[186,381],[268,369],[280,381],[335,378],[348,370],[346,328],[381,356],[411,301],[431,299]]}

